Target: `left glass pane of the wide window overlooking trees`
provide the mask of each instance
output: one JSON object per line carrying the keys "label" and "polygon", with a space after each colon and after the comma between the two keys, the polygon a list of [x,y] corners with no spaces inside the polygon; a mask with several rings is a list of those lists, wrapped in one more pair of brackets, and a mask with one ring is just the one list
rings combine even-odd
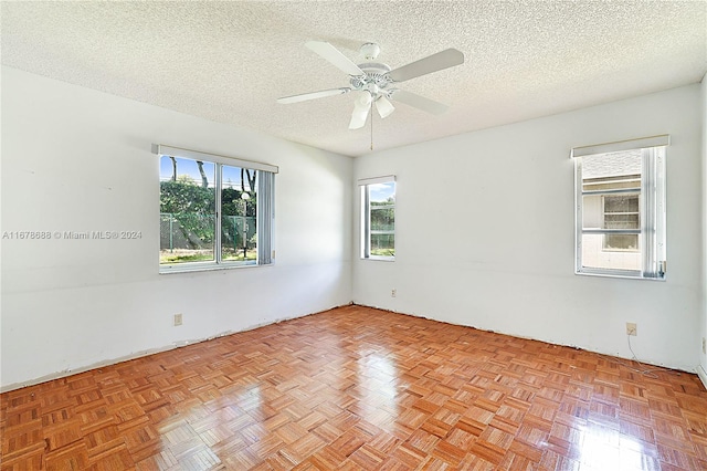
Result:
{"label": "left glass pane of the wide window overlooking trees", "polygon": [[160,157],[160,264],[213,261],[215,166]]}

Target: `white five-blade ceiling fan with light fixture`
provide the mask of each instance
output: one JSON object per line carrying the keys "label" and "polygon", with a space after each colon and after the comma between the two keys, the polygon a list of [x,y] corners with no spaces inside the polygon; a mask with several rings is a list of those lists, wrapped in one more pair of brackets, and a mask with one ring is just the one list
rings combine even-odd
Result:
{"label": "white five-blade ceiling fan with light fixture", "polygon": [[395,109],[392,103],[390,103],[390,100],[432,114],[444,113],[447,108],[446,105],[411,92],[399,90],[395,87],[395,84],[464,63],[464,54],[461,51],[456,49],[445,49],[436,54],[391,70],[387,64],[374,62],[380,53],[380,46],[376,43],[367,42],[361,45],[361,54],[366,61],[369,62],[358,65],[328,42],[309,41],[305,45],[347,73],[349,75],[349,86],[284,96],[277,98],[277,103],[298,103],[307,100],[357,92],[358,96],[354,102],[354,113],[351,114],[349,129],[363,127],[373,103],[381,118],[389,116]]}

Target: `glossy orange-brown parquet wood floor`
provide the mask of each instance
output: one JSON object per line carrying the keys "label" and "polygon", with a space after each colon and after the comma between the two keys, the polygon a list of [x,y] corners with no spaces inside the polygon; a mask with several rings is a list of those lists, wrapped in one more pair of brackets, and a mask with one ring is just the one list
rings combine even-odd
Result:
{"label": "glossy orange-brown parquet wood floor", "polygon": [[0,396],[1,470],[707,470],[707,391],[346,306]]}

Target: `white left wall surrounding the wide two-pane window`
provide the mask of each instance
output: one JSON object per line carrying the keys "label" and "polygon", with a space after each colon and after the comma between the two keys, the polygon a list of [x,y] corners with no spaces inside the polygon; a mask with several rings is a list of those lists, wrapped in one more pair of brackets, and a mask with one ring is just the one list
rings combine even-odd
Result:
{"label": "white left wall surrounding the wide two-pane window", "polygon": [[[275,266],[159,275],[151,143],[279,166]],[[2,240],[0,387],[348,303],[351,178],[348,157],[3,67],[2,231],[143,238]]]}

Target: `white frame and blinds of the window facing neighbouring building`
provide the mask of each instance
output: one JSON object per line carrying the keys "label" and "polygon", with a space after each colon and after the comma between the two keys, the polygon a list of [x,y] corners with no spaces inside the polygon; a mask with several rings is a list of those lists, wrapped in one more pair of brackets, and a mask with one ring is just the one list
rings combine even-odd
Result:
{"label": "white frame and blinds of the window facing neighbouring building", "polygon": [[[652,136],[640,139],[622,140],[616,143],[600,144],[593,146],[576,147],[571,151],[574,160],[574,208],[576,208],[576,244],[574,259],[577,274],[618,276],[645,280],[665,280],[666,275],[666,203],[665,203],[665,157],[669,145],[669,136]],[[621,229],[584,229],[582,221],[583,191],[582,157],[609,154],[622,150],[641,149],[642,178],[641,193],[639,197],[641,207],[641,228],[637,230]],[[625,190],[609,190],[604,193],[625,192]],[[583,266],[582,263],[582,234],[585,233],[626,233],[639,236],[642,261],[641,270],[612,270]]]}

